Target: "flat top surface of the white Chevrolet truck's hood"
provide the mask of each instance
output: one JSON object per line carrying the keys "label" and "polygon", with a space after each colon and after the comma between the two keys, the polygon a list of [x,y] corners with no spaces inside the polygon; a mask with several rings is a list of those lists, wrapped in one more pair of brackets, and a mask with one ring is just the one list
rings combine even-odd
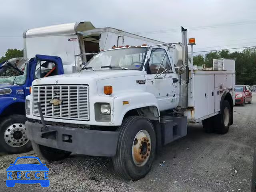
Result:
{"label": "flat top surface of the white Chevrolet truck's hood", "polygon": [[[137,70],[84,70],[80,73],[74,74],[63,74],[50,76],[47,78],[41,78],[33,81],[34,85],[40,84],[81,84],[81,82],[87,83],[92,80],[104,80],[110,78],[119,78],[119,77],[127,77],[127,76],[144,76],[143,71]],[[82,79],[82,80],[81,80]],[[57,82],[58,81],[58,82]]]}

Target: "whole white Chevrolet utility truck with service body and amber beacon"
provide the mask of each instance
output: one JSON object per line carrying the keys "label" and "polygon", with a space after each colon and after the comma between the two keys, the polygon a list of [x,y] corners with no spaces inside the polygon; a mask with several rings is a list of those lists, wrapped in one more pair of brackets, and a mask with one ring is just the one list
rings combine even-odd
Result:
{"label": "whole white Chevrolet utility truck with service body and amber beacon", "polygon": [[138,180],[158,149],[186,136],[187,122],[228,132],[234,87],[234,71],[193,70],[193,54],[188,65],[182,28],[180,43],[104,50],[79,73],[35,80],[26,128],[46,160],[72,152],[110,156],[120,176]]}

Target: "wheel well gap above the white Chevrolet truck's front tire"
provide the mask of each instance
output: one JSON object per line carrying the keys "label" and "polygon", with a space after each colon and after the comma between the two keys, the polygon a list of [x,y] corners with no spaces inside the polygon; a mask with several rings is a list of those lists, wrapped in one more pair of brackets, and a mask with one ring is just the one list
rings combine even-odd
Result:
{"label": "wheel well gap above the white Chevrolet truck's front tire", "polygon": [[132,109],[126,112],[123,119],[129,116],[134,116],[134,115],[144,116],[150,120],[159,120],[158,109],[156,106],[147,106],[147,107]]}

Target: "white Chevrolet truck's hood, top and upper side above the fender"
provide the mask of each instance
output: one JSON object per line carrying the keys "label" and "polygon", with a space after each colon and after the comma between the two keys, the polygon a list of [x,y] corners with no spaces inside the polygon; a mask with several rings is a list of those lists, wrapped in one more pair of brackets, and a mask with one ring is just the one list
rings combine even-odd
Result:
{"label": "white Chevrolet truck's hood, top and upper side above the fender", "polygon": [[[140,83],[139,83],[140,82]],[[118,92],[145,91],[146,81],[143,71],[136,70],[87,70],[85,72],[51,76],[34,80],[32,86],[36,85],[88,85],[90,94],[105,95],[104,86],[113,86],[112,96]]]}

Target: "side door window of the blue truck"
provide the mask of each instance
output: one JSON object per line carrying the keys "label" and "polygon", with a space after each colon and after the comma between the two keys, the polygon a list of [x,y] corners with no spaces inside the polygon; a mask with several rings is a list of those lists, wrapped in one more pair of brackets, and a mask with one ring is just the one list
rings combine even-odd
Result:
{"label": "side door window of the blue truck", "polygon": [[[41,65],[41,68],[40,68]],[[52,61],[38,61],[36,64],[35,79],[57,75],[56,65]]]}

